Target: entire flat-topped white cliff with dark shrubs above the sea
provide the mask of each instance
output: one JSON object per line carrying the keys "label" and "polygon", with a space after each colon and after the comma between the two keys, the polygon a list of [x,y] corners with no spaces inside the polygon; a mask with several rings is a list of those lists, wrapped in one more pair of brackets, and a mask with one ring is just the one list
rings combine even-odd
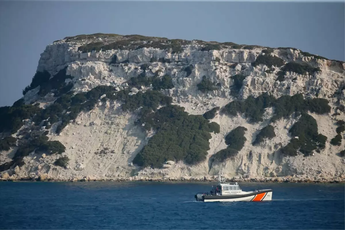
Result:
{"label": "entire flat-topped white cliff with dark shrubs above the sea", "polygon": [[[68,37],[46,47],[23,98],[1,108],[11,124],[0,127],[1,178],[344,181],[344,86],[344,62],[294,48]],[[262,104],[263,95],[269,102]],[[159,103],[147,102],[156,97]],[[191,129],[192,144],[202,147],[185,153],[173,150],[177,140],[165,146],[169,136],[156,141],[182,127],[175,113],[159,123],[155,116],[165,107],[210,127]],[[192,116],[215,107],[209,117]],[[183,127],[176,139],[192,135]],[[237,127],[244,128],[236,136]],[[272,135],[260,132],[265,127]],[[202,143],[195,140],[201,131],[210,135]]]}

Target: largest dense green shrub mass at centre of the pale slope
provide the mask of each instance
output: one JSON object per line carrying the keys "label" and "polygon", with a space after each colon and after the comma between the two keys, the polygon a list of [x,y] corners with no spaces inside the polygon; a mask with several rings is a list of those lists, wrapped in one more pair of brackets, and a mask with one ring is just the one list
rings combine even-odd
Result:
{"label": "largest dense green shrub mass at centre of the pale slope", "polygon": [[168,105],[144,114],[138,124],[156,134],[137,154],[133,163],[143,167],[161,167],[167,160],[183,160],[195,164],[206,159],[210,132],[219,132],[219,125],[203,116],[188,115],[183,107]]}

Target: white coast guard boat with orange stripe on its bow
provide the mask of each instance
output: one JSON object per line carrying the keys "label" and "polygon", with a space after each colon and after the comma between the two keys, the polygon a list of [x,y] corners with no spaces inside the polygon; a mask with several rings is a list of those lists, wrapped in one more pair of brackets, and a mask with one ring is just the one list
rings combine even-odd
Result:
{"label": "white coast guard boat with orange stripe on its bow", "polygon": [[203,202],[214,201],[271,201],[272,189],[256,189],[245,192],[239,187],[238,183],[227,183],[223,178],[219,179],[217,185],[212,186],[208,193],[197,193],[195,199]]}

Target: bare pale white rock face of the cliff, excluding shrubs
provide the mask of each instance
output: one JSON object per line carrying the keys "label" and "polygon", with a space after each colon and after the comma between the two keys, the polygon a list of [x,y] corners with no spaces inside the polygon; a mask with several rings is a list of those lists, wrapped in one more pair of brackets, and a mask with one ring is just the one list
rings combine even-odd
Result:
{"label": "bare pale white rock face of the cliff, excluding shrubs", "polygon": [[[129,87],[126,82],[132,77],[138,77],[139,74],[148,77],[169,75],[174,88],[163,89],[161,92],[172,97],[174,104],[185,107],[188,113],[199,115],[216,106],[223,107],[230,101],[257,97],[265,92],[275,98],[296,93],[303,93],[308,98],[325,98],[329,101],[331,112],[325,115],[309,114],[317,121],[319,133],[327,137],[326,147],[320,153],[315,152],[314,156],[284,156],[279,148],[289,143],[291,137],[288,129],[297,121],[294,118],[274,122],[272,125],[276,136],[253,146],[252,142],[258,131],[267,126],[272,117],[272,109],[267,109],[262,122],[254,124],[248,123],[241,114],[233,117],[216,114],[211,121],[220,125],[220,133],[211,134],[210,150],[205,161],[187,165],[169,160],[160,169],[140,168],[133,166],[131,162],[147,144],[152,133],[146,133],[135,124],[134,113],[122,111],[121,104],[117,101],[103,100],[103,95],[95,108],[79,113],[59,135],[53,134],[54,132],[47,135],[50,140],[58,140],[65,145],[64,154],[69,158],[67,168],[54,164],[59,156],[34,152],[24,157],[23,166],[8,169],[7,174],[3,173],[3,179],[14,174],[17,179],[41,180],[185,180],[222,174],[236,180],[283,180],[287,176],[301,181],[345,180],[344,158],[338,155],[344,149],[344,141],[342,140],[341,146],[329,143],[337,134],[335,122],[345,119],[344,112],[337,109],[344,106],[344,88],[341,88],[345,84],[344,62],[315,58],[297,49],[273,49],[269,55],[279,57],[284,62],[308,63],[321,70],[315,74],[286,72],[284,79],[279,81],[279,68],[252,64],[258,56],[263,55],[266,49],[264,47],[203,50],[201,48],[205,46],[204,43],[188,41],[179,52],[155,47],[78,51],[78,48],[80,50],[81,46],[95,42],[95,39],[96,35],[86,39],[65,38],[48,45],[41,54],[37,70],[46,70],[53,76],[67,68],[66,74],[73,79],[67,79],[66,82],[73,82],[72,90],[75,94],[100,85],[114,86],[118,90],[128,89],[130,94],[136,94],[152,86]],[[111,39],[113,38],[110,37],[109,42],[113,42]],[[144,39],[143,44],[148,43]],[[147,65],[145,69],[143,64]],[[188,66],[192,66],[190,71],[186,71]],[[231,78],[235,74],[246,76],[236,95],[232,93],[234,80]],[[205,93],[198,90],[197,84],[203,76],[217,83],[217,89]],[[25,103],[40,102],[49,106],[56,99],[50,94],[40,97],[38,91],[39,87],[28,91],[23,97]],[[235,158],[224,162],[211,161],[213,154],[227,147],[224,140],[226,134],[238,126],[247,129],[247,141],[242,150]],[[56,126],[52,126],[51,130],[53,129]],[[13,135],[18,137],[20,134],[18,132]],[[3,151],[0,154],[0,164],[11,160],[13,151]]]}

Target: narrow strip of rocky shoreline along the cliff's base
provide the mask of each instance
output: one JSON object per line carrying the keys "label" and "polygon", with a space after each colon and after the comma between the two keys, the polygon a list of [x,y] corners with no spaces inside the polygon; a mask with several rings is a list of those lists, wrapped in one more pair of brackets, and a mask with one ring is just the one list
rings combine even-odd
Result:
{"label": "narrow strip of rocky shoreline along the cliff's base", "polygon": [[[261,178],[242,178],[233,177],[225,178],[228,182],[270,182],[270,183],[345,183],[345,177],[338,178],[316,178],[306,179],[296,176],[287,177],[261,177]],[[47,181],[47,182],[87,182],[87,181],[115,181],[115,182],[138,182],[138,181],[155,181],[155,182],[217,182],[216,176],[213,177],[163,177],[163,178],[148,178],[148,177],[129,177],[129,178],[95,178],[87,176],[83,178],[58,179],[48,178],[46,175],[36,177],[15,178],[13,176],[2,175],[0,181]]]}

